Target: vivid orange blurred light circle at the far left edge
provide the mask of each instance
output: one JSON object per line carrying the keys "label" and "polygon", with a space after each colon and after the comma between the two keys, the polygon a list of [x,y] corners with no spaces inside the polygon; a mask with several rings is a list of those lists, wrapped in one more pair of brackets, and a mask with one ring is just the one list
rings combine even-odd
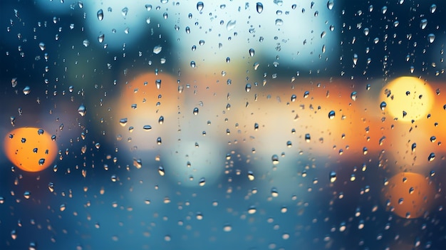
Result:
{"label": "vivid orange blurred light circle at the far left edge", "polygon": [[37,127],[19,127],[4,139],[6,157],[27,172],[46,169],[57,154],[56,142],[51,135]]}

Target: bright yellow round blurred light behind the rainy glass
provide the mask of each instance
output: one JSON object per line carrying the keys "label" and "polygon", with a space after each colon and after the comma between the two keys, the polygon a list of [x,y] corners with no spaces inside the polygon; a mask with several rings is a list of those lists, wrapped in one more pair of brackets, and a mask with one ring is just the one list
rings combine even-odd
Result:
{"label": "bright yellow round blurred light behind the rainy glass", "polygon": [[434,95],[427,83],[419,78],[403,76],[392,80],[381,91],[380,101],[393,118],[411,122],[426,117],[433,105]]}

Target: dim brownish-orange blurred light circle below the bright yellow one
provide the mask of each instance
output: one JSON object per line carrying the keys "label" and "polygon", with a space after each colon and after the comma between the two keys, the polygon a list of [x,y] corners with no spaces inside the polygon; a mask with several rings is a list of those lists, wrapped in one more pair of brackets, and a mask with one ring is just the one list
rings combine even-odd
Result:
{"label": "dim brownish-orange blurred light circle below the bright yellow one", "polygon": [[388,180],[383,189],[390,209],[399,217],[414,219],[421,217],[432,207],[435,189],[422,175],[403,172]]}

